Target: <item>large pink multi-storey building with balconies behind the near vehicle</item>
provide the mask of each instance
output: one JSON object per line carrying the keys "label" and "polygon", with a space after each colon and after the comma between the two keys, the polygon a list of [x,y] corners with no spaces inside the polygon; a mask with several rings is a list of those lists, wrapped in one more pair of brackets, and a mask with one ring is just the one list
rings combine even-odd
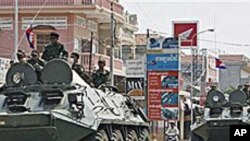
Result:
{"label": "large pink multi-storey building with balconies behind the near vehicle", "polygon": [[[79,52],[86,71],[96,69],[100,58],[106,60],[109,70],[111,44],[112,0],[19,0],[19,48],[30,53],[25,37],[27,26],[32,23],[35,48],[42,52],[49,43],[49,33],[58,32],[60,42],[69,52]],[[15,0],[0,1],[0,57],[11,58],[14,52]],[[124,7],[113,1],[115,19],[114,74],[124,77],[121,47],[134,40],[137,29],[136,15],[124,13]],[[33,21],[33,22],[32,22]],[[92,63],[90,38],[93,32]]]}

